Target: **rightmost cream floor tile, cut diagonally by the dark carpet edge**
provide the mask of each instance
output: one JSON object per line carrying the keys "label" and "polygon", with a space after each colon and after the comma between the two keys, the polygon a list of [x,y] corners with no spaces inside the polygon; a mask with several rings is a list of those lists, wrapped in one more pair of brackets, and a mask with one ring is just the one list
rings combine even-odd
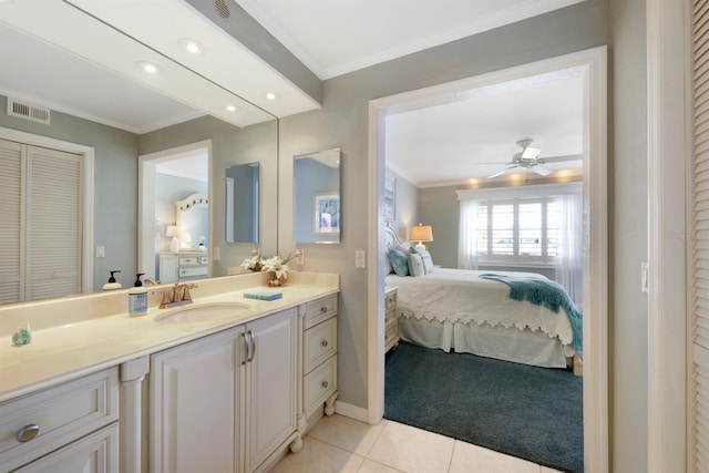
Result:
{"label": "rightmost cream floor tile, cut diagonally by the dark carpet edge", "polygon": [[450,473],[540,473],[540,465],[493,450],[455,441]]}

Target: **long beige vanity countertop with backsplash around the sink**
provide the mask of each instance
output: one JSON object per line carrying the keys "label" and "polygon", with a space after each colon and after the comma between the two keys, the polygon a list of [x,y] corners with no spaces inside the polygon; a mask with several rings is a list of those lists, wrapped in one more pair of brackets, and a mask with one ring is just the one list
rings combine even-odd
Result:
{"label": "long beige vanity countertop with backsplash around the sink", "polygon": [[[158,295],[153,294],[147,313],[137,317],[127,313],[127,290],[0,306],[0,402],[339,291],[337,275],[291,274],[289,284],[279,288],[266,287],[264,277],[254,274],[194,281],[193,304],[174,309],[158,309]],[[168,286],[146,289],[156,292]],[[282,298],[244,298],[250,290],[280,291]],[[248,307],[234,316],[194,322],[155,321],[160,315],[215,302]],[[14,347],[9,327],[13,331],[23,321],[30,322],[32,341]]]}

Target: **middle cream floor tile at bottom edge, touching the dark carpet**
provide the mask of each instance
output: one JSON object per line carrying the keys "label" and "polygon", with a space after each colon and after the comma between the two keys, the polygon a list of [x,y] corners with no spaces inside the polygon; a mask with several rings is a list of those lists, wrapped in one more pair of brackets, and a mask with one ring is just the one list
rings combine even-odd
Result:
{"label": "middle cream floor tile at bottom edge, touching the dark carpet", "polygon": [[454,440],[389,421],[368,457],[407,473],[445,473]]}

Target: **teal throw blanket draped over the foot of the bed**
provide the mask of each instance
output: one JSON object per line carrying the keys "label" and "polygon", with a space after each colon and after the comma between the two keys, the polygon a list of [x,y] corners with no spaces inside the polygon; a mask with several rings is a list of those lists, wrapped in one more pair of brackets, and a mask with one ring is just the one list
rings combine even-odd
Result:
{"label": "teal throw blanket draped over the foot of the bed", "polygon": [[568,292],[566,292],[564,286],[551,279],[528,276],[484,274],[480,275],[480,277],[484,279],[494,279],[510,286],[508,296],[511,299],[528,300],[537,306],[544,306],[554,312],[558,312],[558,308],[563,307],[574,333],[572,348],[578,352],[582,351],[584,340],[584,316],[568,297]]}

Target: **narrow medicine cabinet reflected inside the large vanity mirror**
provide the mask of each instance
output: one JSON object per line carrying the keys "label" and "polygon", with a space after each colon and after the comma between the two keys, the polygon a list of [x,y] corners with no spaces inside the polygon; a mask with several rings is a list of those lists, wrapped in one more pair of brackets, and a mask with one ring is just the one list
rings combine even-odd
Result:
{"label": "narrow medicine cabinet reflected inside the large vanity mirror", "polygon": [[226,168],[226,241],[258,243],[260,163]]}

